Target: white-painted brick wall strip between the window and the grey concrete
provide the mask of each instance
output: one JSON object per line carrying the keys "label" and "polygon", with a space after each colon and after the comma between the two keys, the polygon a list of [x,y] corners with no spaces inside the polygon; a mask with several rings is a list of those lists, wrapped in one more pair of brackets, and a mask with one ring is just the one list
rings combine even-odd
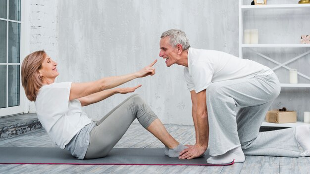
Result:
{"label": "white-painted brick wall strip between the window and the grey concrete", "polygon": [[[52,57],[58,57],[57,31],[57,1],[54,0],[27,0],[26,8],[29,36],[27,37],[27,51],[29,53],[44,49]],[[29,101],[29,100],[28,100]],[[36,112],[34,102],[29,104],[29,112]]]}

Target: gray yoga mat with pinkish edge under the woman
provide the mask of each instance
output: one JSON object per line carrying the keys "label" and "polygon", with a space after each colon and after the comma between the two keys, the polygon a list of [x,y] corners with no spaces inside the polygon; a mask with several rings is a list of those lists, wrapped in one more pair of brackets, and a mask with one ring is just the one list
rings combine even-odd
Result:
{"label": "gray yoga mat with pinkish edge under the woman", "polygon": [[[208,154],[208,151],[206,152]],[[193,165],[207,164],[205,155],[191,160],[169,158],[164,149],[113,148],[104,158],[78,160],[67,150],[45,147],[0,147],[0,164],[74,164],[74,165]],[[223,164],[223,165],[232,165]]]}

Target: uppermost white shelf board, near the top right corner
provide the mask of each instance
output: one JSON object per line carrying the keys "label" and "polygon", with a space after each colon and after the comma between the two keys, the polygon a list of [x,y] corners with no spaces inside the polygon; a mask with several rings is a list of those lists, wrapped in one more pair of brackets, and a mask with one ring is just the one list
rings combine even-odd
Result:
{"label": "uppermost white shelf board, near the top right corner", "polygon": [[284,8],[310,8],[310,4],[272,4],[272,5],[241,5],[241,9],[284,9]]}

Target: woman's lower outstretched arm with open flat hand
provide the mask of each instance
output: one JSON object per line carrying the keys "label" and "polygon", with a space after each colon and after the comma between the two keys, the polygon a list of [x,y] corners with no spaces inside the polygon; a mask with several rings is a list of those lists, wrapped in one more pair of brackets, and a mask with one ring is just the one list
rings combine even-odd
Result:
{"label": "woman's lower outstretched arm with open flat hand", "polygon": [[105,98],[108,98],[108,97],[110,97],[114,94],[117,94],[117,93],[125,94],[125,93],[129,93],[129,92],[134,92],[138,87],[141,87],[141,85],[138,85],[136,87],[107,89],[107,90],[103,90],[101,92],[93,93],[93,94],[85,96],[85,97],[78,98],[78,100],[81,102],[82,106],[87,106],[87,105],[102,101]]}

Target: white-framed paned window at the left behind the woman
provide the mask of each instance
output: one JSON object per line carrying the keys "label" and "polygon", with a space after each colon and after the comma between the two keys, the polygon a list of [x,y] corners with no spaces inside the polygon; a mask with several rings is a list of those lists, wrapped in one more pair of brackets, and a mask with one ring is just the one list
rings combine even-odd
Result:
{"label": "white-framed paned window at the left behind the woman", "polygon": [[0,0],[0,116],[23,112],[20,27],[21,0]]}

